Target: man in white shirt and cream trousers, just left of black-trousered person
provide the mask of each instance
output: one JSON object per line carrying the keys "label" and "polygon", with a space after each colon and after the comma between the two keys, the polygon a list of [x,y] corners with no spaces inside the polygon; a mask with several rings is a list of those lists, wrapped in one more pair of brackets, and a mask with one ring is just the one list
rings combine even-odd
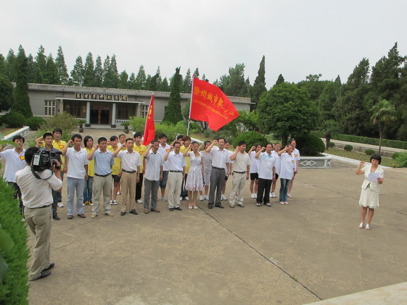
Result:
{"label": "man in white shirt and cream trousers, just left of black-trousered person", "polygon": [[[235,201],[240,207],[243,205],[243,191],[246,180],[250,178],[250,156],[246,153],[246,142],[240,141],[234,153],[230,156],[230,161],[234,162],[232,190],[229,197],[229,206],[235,207]],[[236,193],[238,198],[236,199]]]}

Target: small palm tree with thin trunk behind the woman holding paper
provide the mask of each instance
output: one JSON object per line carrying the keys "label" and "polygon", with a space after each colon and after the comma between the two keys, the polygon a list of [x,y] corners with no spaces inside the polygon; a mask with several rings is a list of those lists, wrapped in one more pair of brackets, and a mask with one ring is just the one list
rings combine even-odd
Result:
{"label": "small palm tree with thin trunk behind the woman holding paper", "polygon": [[382,150],[382,139],[383,139],[383,130],[386,125],[389,125],[392,121],[397,119],[396,116],[396,109],[394,105],[389,102],[388,100],[379,100],[373,107],[372,107],[373,115],[371,116],[371,120],[373,121],[373,125],[379,126],[379,155],[380,151]]}

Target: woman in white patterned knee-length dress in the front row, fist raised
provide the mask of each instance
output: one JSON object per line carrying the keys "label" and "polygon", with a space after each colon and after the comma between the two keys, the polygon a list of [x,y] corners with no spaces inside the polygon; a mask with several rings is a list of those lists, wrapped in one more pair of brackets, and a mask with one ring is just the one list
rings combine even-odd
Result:
{"label": "woman in white patterned knee-length dress in the front row, fist raised", "polygon": [[[190,151],[192,149],[192,151]],[[184,151],[183,156],[185,158],[189,157],[191,162],[191,167],[188,171],[187,180],[185,182],[185,189],[188,191],[188,208],[198,208],[196,206],[196,198],[198,197],[198,192],[203,189],[203,162],[202,153],[199,151],[199,145],[196,141],[193,141],[188,148]]]}

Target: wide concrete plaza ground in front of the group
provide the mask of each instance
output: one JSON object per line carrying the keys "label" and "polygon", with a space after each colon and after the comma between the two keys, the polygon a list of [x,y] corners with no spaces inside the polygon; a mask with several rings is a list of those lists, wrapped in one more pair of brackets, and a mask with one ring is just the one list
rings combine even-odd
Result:
{"label": "wide concrete plaza ground in front of the group", "polygon": [[[96,132],[94,132],[95,134]],[[96,134],[95,134],[96,137]],[[96,140],[96,138],[95,138]],[[51,276],[30,304],[304,304],[407,281],[407,169],[385,170],[371,230],[359,229],[355,166],[301,170],[289,205],[169,211],[53,221]],[[229,194],[231,181],[227,184]],[[277,188],[279,183],[277,184]],[[118,201],[121,201],[121,195]],[[30,233],[29,245],[34,238]]]}

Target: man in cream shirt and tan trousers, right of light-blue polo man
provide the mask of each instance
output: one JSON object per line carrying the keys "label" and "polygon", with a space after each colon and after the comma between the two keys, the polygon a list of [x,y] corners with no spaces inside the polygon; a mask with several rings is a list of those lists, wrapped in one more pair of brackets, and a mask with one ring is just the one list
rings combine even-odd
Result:
{"label": "man in cream shirt and tan trousers, right of light-blue polo man", "polygon": [[[126,147],[122,150],[122,147]],[[122,202],[120,204],[120,215],[124,216],[127,212],[127,200],[130,200],[129,212],[133,215],[138,215],[136,211],[136,184],[140,180],[141,158],[137,151],[133,150],[134,141],[131,138],[126,139],[122,147],[116,149],[113,157],[118,157],[122,160],[122,168],[120,179],[122,184]],[[130,196],[130,198],[128,198]]]}

